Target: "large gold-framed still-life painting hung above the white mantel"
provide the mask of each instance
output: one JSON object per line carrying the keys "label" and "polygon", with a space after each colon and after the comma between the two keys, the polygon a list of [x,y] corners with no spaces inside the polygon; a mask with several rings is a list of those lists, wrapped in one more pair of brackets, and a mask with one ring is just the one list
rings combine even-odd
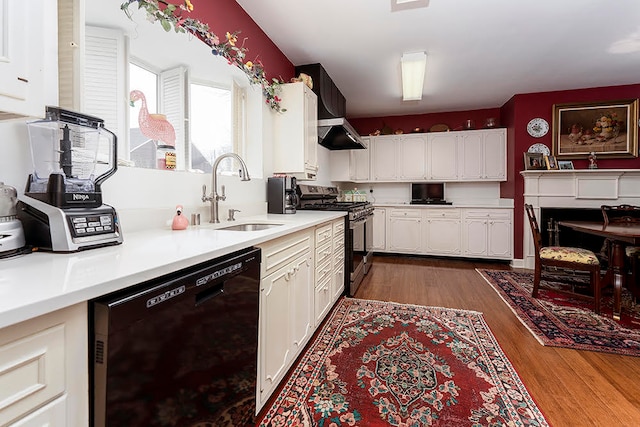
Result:
{"label": "large gold-framed still-life painting hung above the white mantel", "polygon": [[560,158],[638,156],[638,99],[553,106],[553,154]]}

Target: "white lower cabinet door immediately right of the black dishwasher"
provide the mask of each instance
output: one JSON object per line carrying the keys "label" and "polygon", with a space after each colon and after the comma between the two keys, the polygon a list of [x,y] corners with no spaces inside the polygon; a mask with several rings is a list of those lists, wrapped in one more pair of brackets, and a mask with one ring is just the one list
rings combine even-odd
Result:
{"label": "white lower cabinet door immediately right of the black dishwasher", "polygon": [[291,359],[290,266],[265,277],[260,286],[260,400],[269,397]]}

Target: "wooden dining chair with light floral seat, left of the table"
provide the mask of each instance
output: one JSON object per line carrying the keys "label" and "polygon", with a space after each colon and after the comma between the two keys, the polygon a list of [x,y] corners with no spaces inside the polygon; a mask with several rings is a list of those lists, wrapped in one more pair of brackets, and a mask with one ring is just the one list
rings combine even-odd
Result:
{"label": "wooden dining chair with light floral seat, left of the table", "polygon": [[536,219],[533,206],[524,205],[531,233],[533,235],[533,244],[535,246],[535,267],[533,276],[533,291],[531,296],[538,297],[540,282],[542,279],[543,267],[557,267],[573,271],[585,271],[589,273],[589,285],[592,295],[585,295],[576,292],[554,289],[557,292],[568,293],[574,297],[582,299],[593,299],[594,311],[600,314],[600,261],[593,251],[584,248],[575,248],[570,246],[542,246],[542,237],[538,220]]}

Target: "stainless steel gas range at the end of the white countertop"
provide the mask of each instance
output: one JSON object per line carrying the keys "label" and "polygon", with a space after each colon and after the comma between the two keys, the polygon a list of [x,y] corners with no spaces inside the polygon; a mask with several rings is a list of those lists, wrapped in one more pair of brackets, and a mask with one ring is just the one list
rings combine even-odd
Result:
{"label": "stainless steel gas range at the end of the white countertop", "polygon": [[345,289],[354,296],[365,274],[371,269],[373,252],[371,250],[373,206],[369,202],[339,202],[336,187],[299,184],[298,209],[346,211],[345,239]]}

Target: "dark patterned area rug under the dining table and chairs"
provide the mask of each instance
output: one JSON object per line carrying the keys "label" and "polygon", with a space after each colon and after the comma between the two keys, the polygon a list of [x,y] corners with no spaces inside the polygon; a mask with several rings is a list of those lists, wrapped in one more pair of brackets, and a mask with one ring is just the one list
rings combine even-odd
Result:
{"label": "dark patterned area rug under the dining table and chairs", "polygon": [[[543,345],[640,356],[640,305],[633,304],[627,290],[622,294],[620,321],[613,320],[613,298],[605,289],[601,315],[593,304],[540,288],[531,296],[533,273],[477,270],[496,290],[518,319]],[[546,279],[541,286],[561,289],[566,285]]]}

